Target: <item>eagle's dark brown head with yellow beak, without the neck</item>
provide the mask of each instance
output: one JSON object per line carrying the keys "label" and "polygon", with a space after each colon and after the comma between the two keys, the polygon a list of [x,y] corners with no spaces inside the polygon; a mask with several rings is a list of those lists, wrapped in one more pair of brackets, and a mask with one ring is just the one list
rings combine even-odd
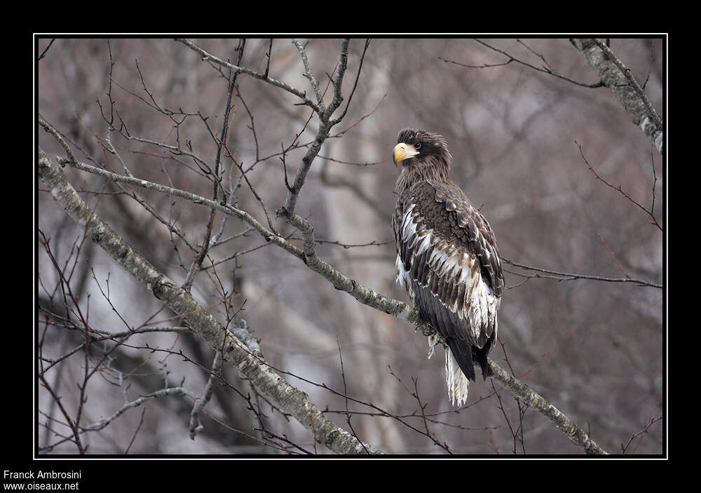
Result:
{"label": "eagle's dark brown head with yellow beak, without the neck", "polygon": [[443,164],[447,169],[450,161],[448,143],[442,135],[404,128],[397,135],[397,145],[392,153],[392,160],[402,166],[416,166],[419,163]]}

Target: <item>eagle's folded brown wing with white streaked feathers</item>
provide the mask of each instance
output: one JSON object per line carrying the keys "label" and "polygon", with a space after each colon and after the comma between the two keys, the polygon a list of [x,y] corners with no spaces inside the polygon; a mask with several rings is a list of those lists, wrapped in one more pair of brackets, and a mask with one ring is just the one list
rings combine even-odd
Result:
{"label": "eagle's folded brown wing with white streaked feathers", "polygon": [[465,377],[475,379],[476,358],[486,378],[504,287],[489,223],[455,184],[428,181],[402,193],[392,222],[397,282],[446,338]]}

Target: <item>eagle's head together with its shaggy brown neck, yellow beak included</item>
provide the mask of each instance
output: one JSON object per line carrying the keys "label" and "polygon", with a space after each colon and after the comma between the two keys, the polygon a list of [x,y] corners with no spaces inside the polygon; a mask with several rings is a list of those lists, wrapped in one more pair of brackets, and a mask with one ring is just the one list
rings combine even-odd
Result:
{"label": "eagle's head together with its shaggy brown neck, yellow beak included", "polygon": [[447,180],[451,155],[442,135],[404,128],[397,135],[392,160],[395,166],[402,163],[399,191],[419,180]]}

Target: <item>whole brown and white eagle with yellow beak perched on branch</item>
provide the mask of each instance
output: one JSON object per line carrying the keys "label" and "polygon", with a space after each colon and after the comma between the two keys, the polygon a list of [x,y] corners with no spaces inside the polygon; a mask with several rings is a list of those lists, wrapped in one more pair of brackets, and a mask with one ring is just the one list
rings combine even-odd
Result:
{"label": "whole brown and white eagle with yellow beak perched on branch", "polygon": [[504,290],[494,231],[448,176],[452,156],[444,137],[405,128],[393,151],[402,164],[392,229],[397,283],[404,286],[429,335],[430,351],[445,346],[448,397],[468,399],[475,364],[491,376],[487,355],[497,335]]}

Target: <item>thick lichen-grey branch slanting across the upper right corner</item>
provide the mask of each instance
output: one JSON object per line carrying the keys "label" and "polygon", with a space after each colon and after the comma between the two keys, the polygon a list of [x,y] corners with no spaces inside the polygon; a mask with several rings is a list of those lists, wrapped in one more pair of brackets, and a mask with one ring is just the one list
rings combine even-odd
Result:
{"label": "thick lichen-grey branch slanting across the upper right corner", "polygon": [[635,126],[650,137],[655,147],[662,153],[665,142],[662,118],[655,112],[647,95],[630,73],[630,69],[616,58],[611,48],[598,39],[573,38],[570,41],[584,54],[589,65],[599,74],[601,81],[611,90]]}

